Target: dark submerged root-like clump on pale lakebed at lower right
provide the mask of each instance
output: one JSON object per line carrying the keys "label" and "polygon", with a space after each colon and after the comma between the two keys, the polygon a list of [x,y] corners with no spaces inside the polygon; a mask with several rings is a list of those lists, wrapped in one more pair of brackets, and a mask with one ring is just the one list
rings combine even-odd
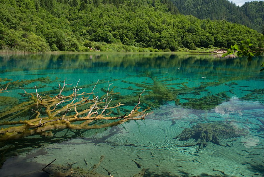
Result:
{"label": "dark submerged root-like clump on pale lakebed at lower right", "polygon": [[199,149],[207,146],[208,142],[225,146],[221,144],[220,139],[228,139],[240,137],[242,134],[239,130],[235,129],[231,124],[224,122],[210,122],[210,123],[197,123],[192,128],[187,128],[182,131],[174,139],[183,141],[194,139],[196,143],[177,145],[178,147],[199,146]]}

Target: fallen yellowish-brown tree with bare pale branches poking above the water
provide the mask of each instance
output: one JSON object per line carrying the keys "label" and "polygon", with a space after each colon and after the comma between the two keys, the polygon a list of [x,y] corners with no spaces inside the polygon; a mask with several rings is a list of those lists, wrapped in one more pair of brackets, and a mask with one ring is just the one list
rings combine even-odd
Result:
{"label": "fallen yellowish-brown tree with bare pale branches poking above the water", "polygon": [[[111,100],[109,98],[113,94],[109,92],[111,84],[109,84],[104,98],[94,95],[93,91],[98,82],[91,93],[79,93],[82,89],[77,88],[79,81],[73,87],[72,93],[64,96],[63,89],[65,86],[72,85],[65,84],[65,80],[63,86],[59,84],[60,91],[55,96],[40,95],[37,91],[37,86],[35,86],[35,93],[27,93],[21,87],[28,99],[0,113],[0,119],[2,120],[0,123],[2,127],[0,129],[0,141],[19,139],[36,134],[53,136],[52,130],[55,129],[88,130],[105,128],[124,123],[128,120],[144,119],[146,116],[145,111],[148,108],[139,111],[140,96],[143,91],[138,96],[138,103],[129,113],[111,116],[114,115],[112,112],[115,109],[123,105],[121,103],[116,105],[110,104]],[[23,119],[21,114],[29,111],[34,114],[33,117]],[[18,120],[18,117],[22,117],[22,119]]]}

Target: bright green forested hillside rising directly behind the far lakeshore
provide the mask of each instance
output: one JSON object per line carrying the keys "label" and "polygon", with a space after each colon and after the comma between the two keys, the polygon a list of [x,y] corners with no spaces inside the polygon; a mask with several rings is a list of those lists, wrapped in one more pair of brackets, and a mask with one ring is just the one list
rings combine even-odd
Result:
{"label": "bright green forested hillside rising directly behind the far lakeshore", "polygon": [[226,20],[179,14],[170,0],[1,0],[2,51],[177,51],[263,35]]}

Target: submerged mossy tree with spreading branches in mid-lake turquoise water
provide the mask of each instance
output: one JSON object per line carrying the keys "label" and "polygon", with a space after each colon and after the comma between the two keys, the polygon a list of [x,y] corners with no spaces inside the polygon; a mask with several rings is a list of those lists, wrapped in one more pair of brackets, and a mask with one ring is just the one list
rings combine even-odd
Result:
{"label": "submerged mossy tree with spreading branches in mid-lake turquoise water", "polygon": [[[131,84],[131,86],[122,89],[134,91],[137,94],[139,94],[139,91],[144,89],[145,96],[144,98],[142,98],[142,101],[151,108],[158,108],[164,103],[174,102],[176,105],[180,105],[186,108],[211,110],[231,98],[227,94],[230,91],[219,91],[219,93],[212,93],[211,91],[209,91],[210,87],[226,85],[227,81],[224,79],[219,79],[218,81],[214,82],[200,82],[195,86],[188,86],[188,82],[177,81],[179,80],[179,78],[164,78],[163,76],[154,76],[154,74],[150,74],[148,72],[142,73],[139,76],[147,77],[149,78],[149,81],[136,83],[122,80],[123,83]],[[231,83],[228,85],[230,87],[233,85],[237,85],[237,83],[232,82],[232,80],[240,79],[240,77],[241,76],[230,78],[228,82]],[[245,98],[252,98],[252,95],[259,94],[255,93],[255,90],[248,91],[252,93],[246,95]],[[135,94],[131,94],[131,96],[133,95]],[[188,97],[182,97],[185,95],[188,95]],[[190,98],[190,95],[192,95],[194,98]],[[120,96],[118,94],[115,96],[117,100],[121,99],[122,103],[126,104],[125,96]],[[131,101],[128,100],[127,102],[129,104],[129,102]]]}

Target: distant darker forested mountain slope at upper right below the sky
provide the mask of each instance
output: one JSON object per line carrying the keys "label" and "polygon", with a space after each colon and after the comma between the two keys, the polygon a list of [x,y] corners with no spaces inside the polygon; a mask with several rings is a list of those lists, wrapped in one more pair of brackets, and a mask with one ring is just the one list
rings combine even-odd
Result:
{"label": "distant darker forested mountain slope at upper right below the sky", "polygon": [[198,19],[223,20],[243,24],[258,32],[263,31],[264,2],[246,2],[239,7],[227,0],[172,0],[181,14]]}

